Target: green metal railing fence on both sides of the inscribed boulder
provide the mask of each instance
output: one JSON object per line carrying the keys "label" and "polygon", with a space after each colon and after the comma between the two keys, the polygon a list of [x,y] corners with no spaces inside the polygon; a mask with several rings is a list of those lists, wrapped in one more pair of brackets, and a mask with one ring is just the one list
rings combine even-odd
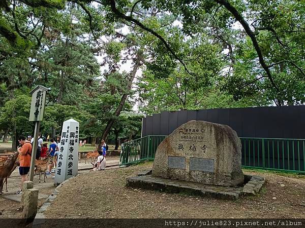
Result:
{"label": "green metal railing fence on both sides of the inscribed boulder", "polygon": [[[123,143],[120,165],[154,160],[158,145],[165,135],[149,135]],[[305,174],[305,139],[240,138],[241,165]]]}

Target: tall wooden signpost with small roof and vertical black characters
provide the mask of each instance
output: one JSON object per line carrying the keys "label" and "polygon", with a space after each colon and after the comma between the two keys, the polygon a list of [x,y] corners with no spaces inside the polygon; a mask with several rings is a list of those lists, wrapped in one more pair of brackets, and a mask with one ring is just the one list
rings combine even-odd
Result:
{"label": "tall wooden signpost with small roof and vertical black characters", "polygon": [[46,101],[46,93],[49,89],[44,86],[37,86],[33,89],[32,94],[31,111],[29,112],[28,121],[35,122],[34,141],[32,147],[31,167],[29,169],[29,180],[34,179],[34,167],[37,151],[38,133],[40,128],[40,122],[43,119],[44,106]]}

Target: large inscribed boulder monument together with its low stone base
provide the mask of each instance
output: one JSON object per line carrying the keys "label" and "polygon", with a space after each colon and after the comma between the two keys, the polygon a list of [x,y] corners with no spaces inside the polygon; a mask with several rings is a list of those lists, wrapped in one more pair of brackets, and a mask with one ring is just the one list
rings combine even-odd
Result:
{"label": "large inscribed boulder monument together with its low stone base", "polygon": [[158,146],[153,170],[126,179],[130,187],[227,200],[241,193],[255,195],[264,182],[263,177],[243,175],[236,132],[205,121],[178,127]]}

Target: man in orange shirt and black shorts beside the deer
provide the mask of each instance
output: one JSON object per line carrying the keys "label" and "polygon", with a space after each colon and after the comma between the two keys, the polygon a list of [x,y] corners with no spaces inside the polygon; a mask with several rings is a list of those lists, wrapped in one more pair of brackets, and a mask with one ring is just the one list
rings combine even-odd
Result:
{"label": "man in orange shirt and black shorts beside the deer", "polygon": [[[32,155],[32,144],[28,140],[25,139],[24,136],[20,136],[18,138],[21,147],[17,148],[19,152],[20,158],[20,166],[19,173],[21,175],[21,189],[24,181],[27,181],[27,173],[29,171],[29,167],[31,166],[31,155]],[[18,191],[16,194],[21,194],[22,191]]]}

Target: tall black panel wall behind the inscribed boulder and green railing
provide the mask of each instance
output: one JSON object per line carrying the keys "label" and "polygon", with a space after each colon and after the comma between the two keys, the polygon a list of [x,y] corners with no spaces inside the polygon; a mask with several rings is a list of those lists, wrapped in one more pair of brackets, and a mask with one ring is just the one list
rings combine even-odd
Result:
{"label": "tall black panel wall behind the inscribed boulder and green railing", "polygon": [[191,120],[230,126],[243,166],[305,171],[305,105],[163,111],[142,120],[142,137],[169,135]]}

